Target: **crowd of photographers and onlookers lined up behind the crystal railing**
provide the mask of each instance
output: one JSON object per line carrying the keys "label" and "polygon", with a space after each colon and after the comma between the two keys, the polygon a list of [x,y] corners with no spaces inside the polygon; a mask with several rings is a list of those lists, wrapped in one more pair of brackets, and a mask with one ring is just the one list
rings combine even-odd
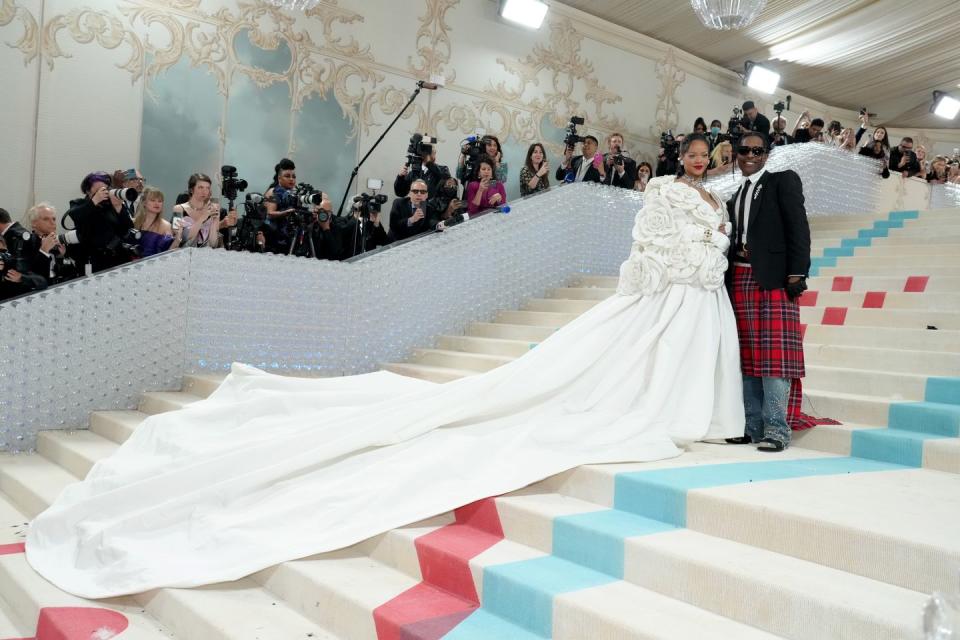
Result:
{"label": "crowd of photographers and onlookers lined up behind the crystal railing", "polygon": [[[804,111],[789,132],[785,118],[778,114],[771,122],[753,102],[745,102],[741,113],[742,117],[727,123],[726,131],[718,119],[709,127],[703,118],[694,122],[691,133],[702,135],[709,148],[707,176],[733,172],[738,140],[747,133],[763,133],[771,148],[820,143],[874,158],[880,161],[884,177],[897,172],[932,184],[960,183],[956,150],[952,157],[928,158],[926,149],[914,147],[909,137],[891,147],[886,128],[871,127],[866,110],[857,129],[837,121],[825,125],[823,119]],[[566,144],[552,177],[546,148],[535,142],[515,179],[524,197],[549,189],[551,180],[643,191],[654,175],[682,172],[678,150],[684,138],[672,132],[661,136],[654,169],[649,162],[631,157],[618,132],[606,137],[604,153],[596,137],[577,136],[575,143]],[[580,153],[575,154],[578,145]],[[233,167],[224,167],[233,173],[220,176],[221,193],[233,196],[226,207],[213,198],[214,180],[203,173],[191,175],[186,191],[171,204],[164,193],[146,184],[137,169],[92,172],[83,178],[80,197],[70,201],[59,221],[61,232],[57,209],[48,202],[27,211],[26,227],[0,209],[0,300],[181,247],[344,260],[422,233],[443,231],[478,212],[507,204],[510,170],[496,136],[464,141],[453,174],[437,163],[433,144],[417,144],[409,151],[394,180],[396,199],[388,214],[389,231],[380,213],[385,196],[355,198],[350,215],[333,215],[329,195],[299,183],[296,165],[288,158],[277,163],[262,195],[247,193],[240,203],[242,217],[234,206],[237,190],[229,193],[230,185],[237,182]]]}

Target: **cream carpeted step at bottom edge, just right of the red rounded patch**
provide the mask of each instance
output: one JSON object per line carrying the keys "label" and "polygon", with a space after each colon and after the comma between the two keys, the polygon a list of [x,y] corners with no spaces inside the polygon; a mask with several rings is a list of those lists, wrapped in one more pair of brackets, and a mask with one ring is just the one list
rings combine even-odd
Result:
{"label": "cream carpeted step at bottom edge, just right of the red rounded patch", "polygon": [[182,638],[336,638],[250,579],[193,589],[158,589],[135,598],[148,613]]}

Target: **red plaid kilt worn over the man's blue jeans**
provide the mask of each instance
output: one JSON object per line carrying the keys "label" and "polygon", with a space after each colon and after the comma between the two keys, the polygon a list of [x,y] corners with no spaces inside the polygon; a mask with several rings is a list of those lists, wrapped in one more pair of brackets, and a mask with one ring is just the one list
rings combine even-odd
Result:
{"label": "red plaid kilt worn over the man's blue jeans", "polygon": [[806,372],[800,306],[784,289],[760,289],[750,267],[734,264],[733,268],[741,371],[757,378],[802,378]]}

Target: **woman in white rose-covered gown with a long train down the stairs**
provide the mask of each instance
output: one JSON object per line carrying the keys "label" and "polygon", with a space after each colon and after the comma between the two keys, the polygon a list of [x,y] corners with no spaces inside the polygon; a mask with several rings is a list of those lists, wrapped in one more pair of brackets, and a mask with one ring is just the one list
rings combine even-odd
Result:
{"label": "woman in white rose-covered gown with a long train down the stairs", "polygon": [[684,178],[647,186],[617,295],[522,358],[443,385],[234,365],[38,516],[30,564],[90,598],[233,580],[577,465],[741,435],[726,207],[699,183],[706,142],[682,159]]}

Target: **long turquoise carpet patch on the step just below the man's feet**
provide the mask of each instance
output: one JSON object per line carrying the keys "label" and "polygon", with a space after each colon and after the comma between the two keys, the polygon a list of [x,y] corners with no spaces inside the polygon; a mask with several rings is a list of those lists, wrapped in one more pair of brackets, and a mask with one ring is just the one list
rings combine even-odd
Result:
{"label": "long turquoise carpet patch on the step just below the man's feet", "polygon": [[692,489],[898,468],[902,467],[861,458],[812,458],[638,471],[616,477],[613,506],[615,509],[685,527],[687,492]]}

